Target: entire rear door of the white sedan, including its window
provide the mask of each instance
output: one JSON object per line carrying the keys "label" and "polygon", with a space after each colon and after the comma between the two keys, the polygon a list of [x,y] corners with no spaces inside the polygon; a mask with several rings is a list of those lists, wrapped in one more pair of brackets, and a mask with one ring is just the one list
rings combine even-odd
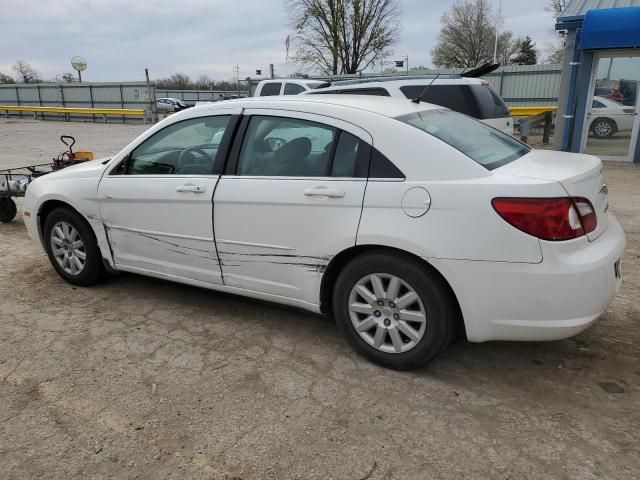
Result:
{"label": "entire rear door of the white sedan, including its window", "polygon": [[214,198],[225,285],[318,303],[355,244],[371,137],[337,119],[245,110]]}

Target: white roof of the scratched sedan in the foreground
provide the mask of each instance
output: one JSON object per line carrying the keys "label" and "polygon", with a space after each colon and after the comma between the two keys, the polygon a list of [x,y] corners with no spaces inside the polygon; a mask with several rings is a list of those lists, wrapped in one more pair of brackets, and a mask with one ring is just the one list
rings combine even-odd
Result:
{"label": "white roof of the scratched sedan in the foreground", "polygon": [[[237,108],[264,108],[276,110],[291,110],[314,113],[325,111],[326,107],[346,107],[354,110],[367,111],[395,118],[417,111],[437,110],[443,107],[431,103],[414,103],[405,98],[379,97],[375,95],[289,95],[270,97],[249,97],[238,100],[216,102],[211,105],[202,105],[196,109],[228,109]],[[190,109],[194,110],[194,109]]]}

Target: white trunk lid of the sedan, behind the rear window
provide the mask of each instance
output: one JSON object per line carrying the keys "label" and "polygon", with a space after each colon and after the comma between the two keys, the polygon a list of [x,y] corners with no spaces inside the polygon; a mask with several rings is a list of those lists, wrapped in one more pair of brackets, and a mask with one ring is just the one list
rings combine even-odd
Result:
{"label": "white trunk lid of the sedan, behind the rear window", "polygon": [[608,188],[598,157],[579,153],[532,150],[527,155],[503,167],[496,173],[516,177],[556,181],[571,197],[588,199],[596,213],[598,225],[587,234],[589,240],[598,238],[609,223]]}

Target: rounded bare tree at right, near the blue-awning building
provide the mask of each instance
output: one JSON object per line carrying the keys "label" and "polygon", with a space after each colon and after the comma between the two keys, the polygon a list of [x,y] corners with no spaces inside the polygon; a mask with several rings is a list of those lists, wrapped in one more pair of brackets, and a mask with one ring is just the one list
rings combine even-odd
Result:
{"label": "rounded bare tree at right, near the blue-awning building", "polygon": [[438,67],[476,67],[493,60],[495,27],[489,0],[454,3],[440,22],[440,38],[431,51]]}

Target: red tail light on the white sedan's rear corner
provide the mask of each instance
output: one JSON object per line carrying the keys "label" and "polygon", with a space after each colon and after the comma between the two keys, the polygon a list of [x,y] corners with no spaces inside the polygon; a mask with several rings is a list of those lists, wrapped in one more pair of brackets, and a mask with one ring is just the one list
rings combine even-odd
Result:
{"label": "red tail light on the white sedan's rear corner", "polygon": [[593,232],[593,205],[582,197],[494,198],[491,205],[508,223],[542,240],[570,240]]}

